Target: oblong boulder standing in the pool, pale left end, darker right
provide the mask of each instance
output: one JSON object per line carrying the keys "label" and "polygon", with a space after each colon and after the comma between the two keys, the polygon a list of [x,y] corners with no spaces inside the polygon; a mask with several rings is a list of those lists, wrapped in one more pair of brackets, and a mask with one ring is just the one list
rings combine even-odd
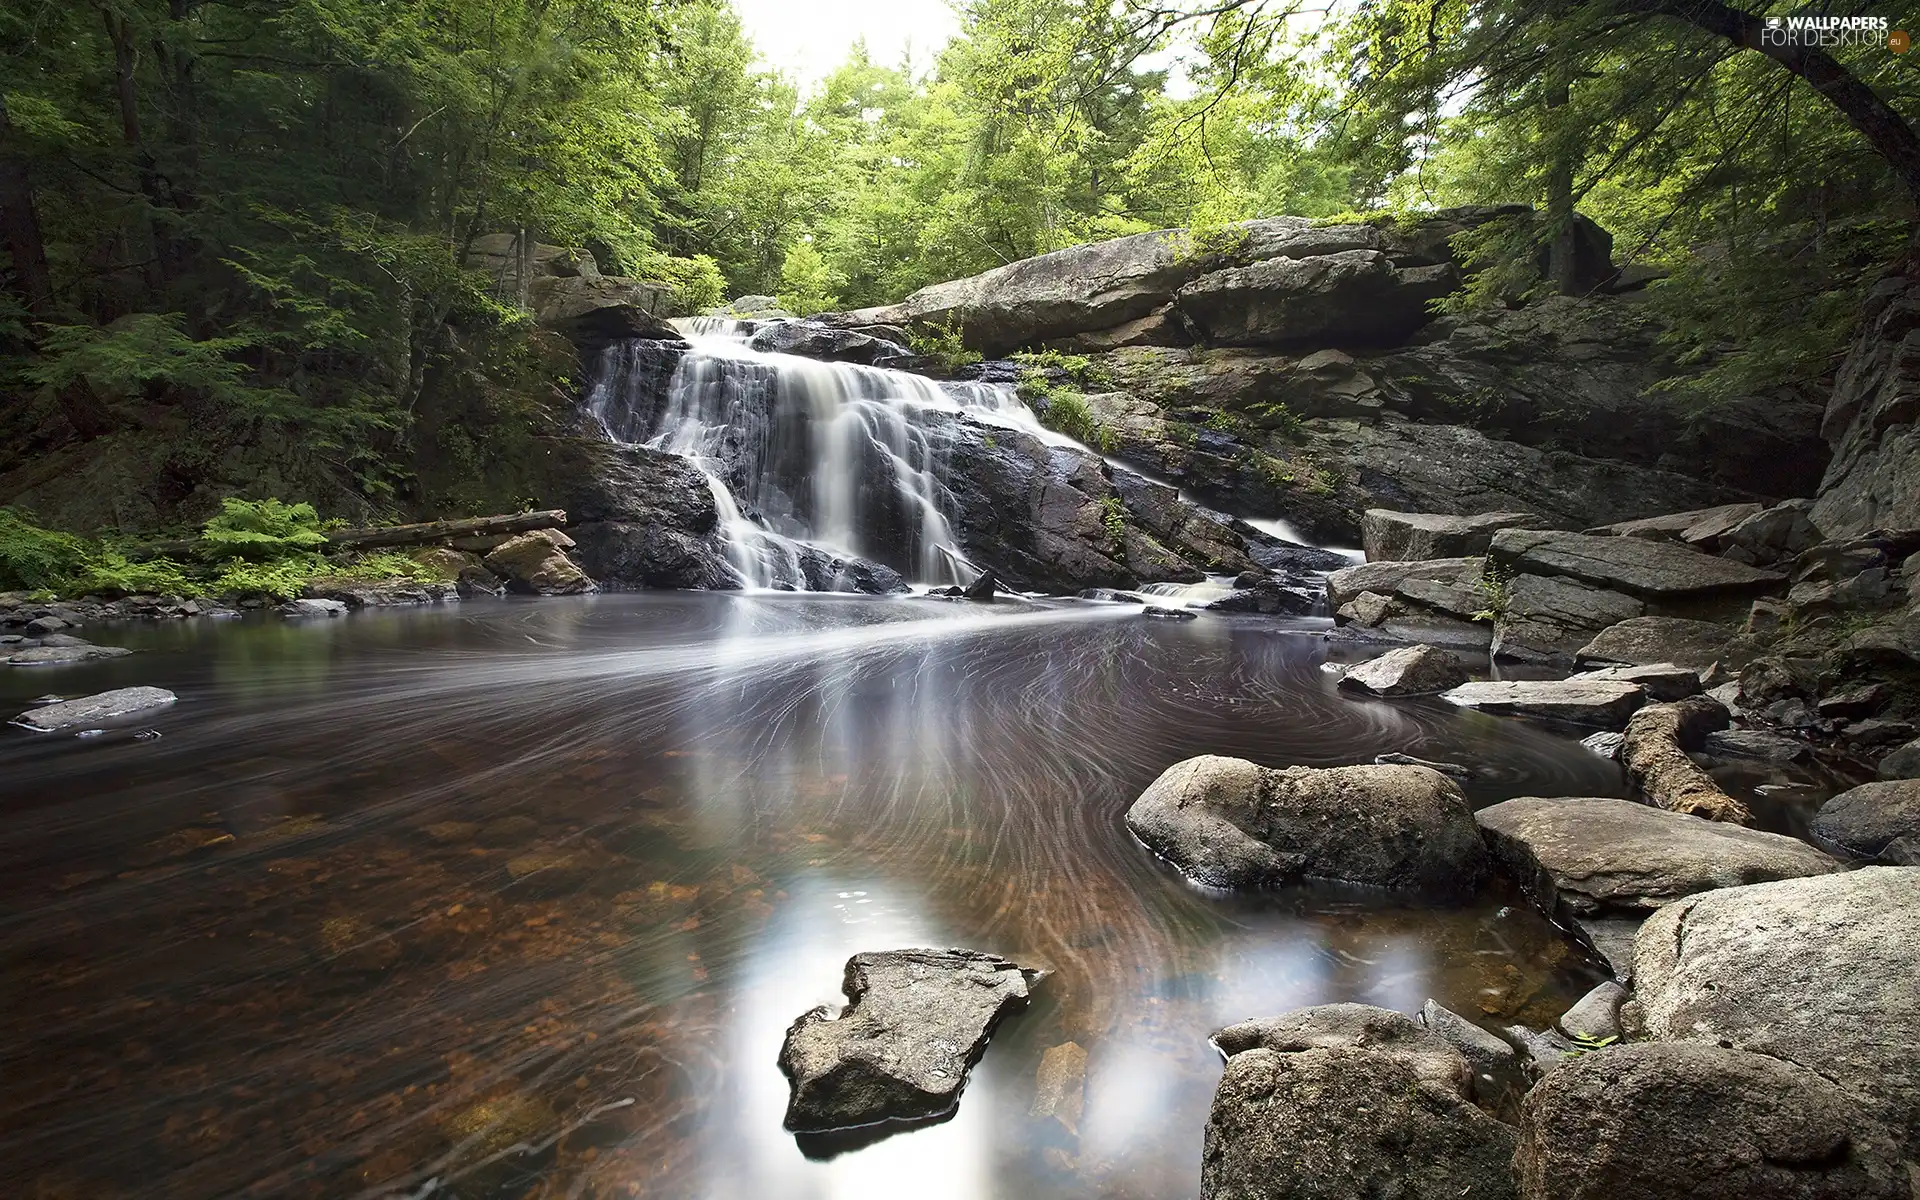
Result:
{"label": "oblong boulder standing in the pool, pale left end, darker right", "polygon": [[1488,854],[1459,785],[1425,766],[1292,766],[1202,755],[1127,808],[1146,849],[1208,887],[1334,879],[1463,899]]}

